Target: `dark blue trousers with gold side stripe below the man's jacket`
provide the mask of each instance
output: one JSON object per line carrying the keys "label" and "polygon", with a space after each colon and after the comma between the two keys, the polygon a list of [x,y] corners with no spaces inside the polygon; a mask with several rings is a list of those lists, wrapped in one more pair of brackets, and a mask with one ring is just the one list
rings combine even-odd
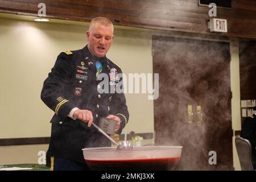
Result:
{"label": "dark blue trousers with gold side stripe below the man's jacket", "polygon": [[70,159],[51,157],[52,171],[89,171],[86,164],[77,163]]}

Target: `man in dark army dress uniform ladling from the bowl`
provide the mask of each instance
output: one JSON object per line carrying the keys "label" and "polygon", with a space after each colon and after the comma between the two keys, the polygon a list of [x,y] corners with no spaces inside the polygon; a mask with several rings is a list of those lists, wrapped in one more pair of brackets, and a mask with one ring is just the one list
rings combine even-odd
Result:
{"label": "man in dark army dress uniform ladling from the bowl", "polygon": [[82,148],[109,147],[108,138],[90,127],[100,117],[118,121],[121,134],[129,119],[123,93],[99,93],[98,75],[108,75],[109,88],[121,81],[121,69],[106,57],[113,42],[113,24],[109,19],[92,19],[86,33],[88,45],[76,51],[65,51],[44,81],[41,98],[55,114],[51,119],[51,141],[47,156],[53,170],[86,170]]}

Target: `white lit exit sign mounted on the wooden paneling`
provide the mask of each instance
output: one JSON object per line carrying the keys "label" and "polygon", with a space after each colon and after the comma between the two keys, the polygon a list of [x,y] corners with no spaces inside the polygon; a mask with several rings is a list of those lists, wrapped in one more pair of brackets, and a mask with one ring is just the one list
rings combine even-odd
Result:
{"label": "white lit exit sign mounted on the wooden paneling", "polygon": [[212,18],[209,28],[211,32],[228,32],[228,22],[226,19]]}

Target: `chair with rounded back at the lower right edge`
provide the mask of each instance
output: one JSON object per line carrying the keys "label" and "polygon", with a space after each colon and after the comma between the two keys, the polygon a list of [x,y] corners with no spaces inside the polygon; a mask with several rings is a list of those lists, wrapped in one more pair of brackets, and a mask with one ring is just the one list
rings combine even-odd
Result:
{"label": "chair with rounded back at the lower right edge", "polygon": [[254,171],[253,164],[251,162],[250,141],[242,137],[236,137],[235,143],[242,171]]}

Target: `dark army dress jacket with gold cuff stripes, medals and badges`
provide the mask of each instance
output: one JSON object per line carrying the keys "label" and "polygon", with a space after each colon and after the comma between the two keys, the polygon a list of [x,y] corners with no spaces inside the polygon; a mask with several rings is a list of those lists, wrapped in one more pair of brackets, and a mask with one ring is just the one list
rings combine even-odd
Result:
{"label": "dark army dress jacket with gold cuff stripes, medals and badges", "polygon": [[88,46],[60,53],[44,81],[41,98],[55,112],[51,119],[51,140],[47,155],[85,163],[82,148],[111,145],[110,140],[95,127],[88,127],[87,123],[68,117],[75,107],[92,111],[93,122],[97,125],[100,117],[117,115],[121,119],[117,134],[121,134],[128,122],[125,94],[117,93],[115,89],[114,93],[98,93],[101,81],[97,80],[96,61],[102,63],[101,73],[109,76],[109,89],[115,88],[120,82],[117,74],[122,73],[121,69],[106,56],[93,56]]}

